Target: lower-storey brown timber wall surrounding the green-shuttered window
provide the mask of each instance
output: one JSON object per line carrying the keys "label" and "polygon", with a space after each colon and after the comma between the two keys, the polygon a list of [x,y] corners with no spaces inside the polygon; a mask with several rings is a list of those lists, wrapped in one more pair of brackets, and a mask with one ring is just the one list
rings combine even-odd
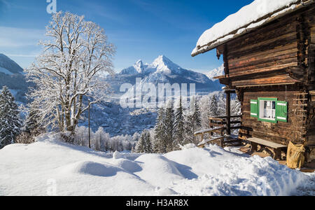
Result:
{"label": "lower-storey brown timber wall surrounding the green-shuttered window", "polygon": [[[300,90],[291,85],[287,87],[265,87],[265,88],[247,88],[241,90],[239,94],[243,94],[242,99],[242,126],[246,127],[240,131],[240,137],[257,137],[268,141],[273,141],[279,144],[288,145],[289,141],[295,144],[304,144],[305,141],[305,122],[300,116],[300,112],[296,112],[297,94]],[[288,102],[288,123],[266,123],[258,121],[258,118],[251,117],[251,99],[258,97],[272,97],[280,101]]]}

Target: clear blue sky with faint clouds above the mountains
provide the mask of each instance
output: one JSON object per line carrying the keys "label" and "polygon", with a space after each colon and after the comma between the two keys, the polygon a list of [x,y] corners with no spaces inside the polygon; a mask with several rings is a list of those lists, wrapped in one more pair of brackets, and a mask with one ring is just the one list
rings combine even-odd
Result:
{"label": "clear blue sky with faint clouds above the mountains", "polygon": [[[151,63],[165,55],[185,69],[207,72],[222,64],[216,50],[191,57],[206,29],[252,0],[57,0],[57,10],[85,15],[114,43],[116,71],[138,59]],[[0,0],[0,53],[26,68],[41,52],[51,15],[46,0]]]}

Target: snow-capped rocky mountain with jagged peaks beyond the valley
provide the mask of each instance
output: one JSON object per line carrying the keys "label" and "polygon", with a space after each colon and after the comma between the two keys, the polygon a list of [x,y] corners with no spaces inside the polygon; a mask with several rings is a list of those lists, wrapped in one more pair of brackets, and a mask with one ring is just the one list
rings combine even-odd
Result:
{"label": "snow-capped rocky mountain with jagged peaks beyond the valley", "polygon": [[[220,73],[216,71],[216,73]],[[214,73],[211,74],[214,76]],[[152,64],[145,64],[141,60],[137,61],[133,66],[123,69],[120,73],[113,76],[107,76],[106,82],[111,84],[116,94],[120,92],[120,85],[123,83],[136,84],[136,78],[141,78],[141,83],[153,83],[158,87],[159,83],[195,83],[197,93],[209,93],[221,90],[222,85],[218,80],[213,80],[204,73],[198,73],[183,69],[178,64],[172,62],[171,59],[160,55]],[[189,85],[188,85],[189,86]]]}

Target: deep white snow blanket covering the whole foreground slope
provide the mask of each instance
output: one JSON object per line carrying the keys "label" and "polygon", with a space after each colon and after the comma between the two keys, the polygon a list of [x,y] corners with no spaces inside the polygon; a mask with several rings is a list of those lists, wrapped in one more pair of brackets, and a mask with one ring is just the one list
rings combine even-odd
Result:
{"label": "deep white snow blanket covering the whole foreground slope", "polygon": [[[98,153],[50,133],[0,151],[0,195],[290,195],[309,179],[218,146],[165,155]],[[52,182],[51,182],[52,181]]]}

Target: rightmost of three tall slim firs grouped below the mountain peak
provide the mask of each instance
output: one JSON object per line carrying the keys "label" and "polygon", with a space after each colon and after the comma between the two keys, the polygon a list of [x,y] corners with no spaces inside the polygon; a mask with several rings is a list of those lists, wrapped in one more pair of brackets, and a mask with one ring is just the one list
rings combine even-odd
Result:
{"label": "rightmost of three tall slim firs grouped below the mountain peak", "polygon": [[185,133],[185,118],[183,114],[182,98],[179,99],[179,104],[176,106],[174,113],[174,149],[179,148],[179,144],[183,144],[183,136]]}

